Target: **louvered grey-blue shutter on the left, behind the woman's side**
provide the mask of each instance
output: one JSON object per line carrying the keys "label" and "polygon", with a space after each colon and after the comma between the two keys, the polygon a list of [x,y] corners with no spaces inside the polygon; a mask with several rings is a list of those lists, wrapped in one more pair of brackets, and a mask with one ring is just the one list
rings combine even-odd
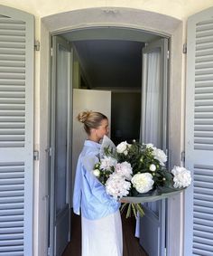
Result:
{"label": "louvered grey-blue shutter on the left, behind the woman's side", "polygon": [[32,255],[33,16],[0,5],[0,255]]}

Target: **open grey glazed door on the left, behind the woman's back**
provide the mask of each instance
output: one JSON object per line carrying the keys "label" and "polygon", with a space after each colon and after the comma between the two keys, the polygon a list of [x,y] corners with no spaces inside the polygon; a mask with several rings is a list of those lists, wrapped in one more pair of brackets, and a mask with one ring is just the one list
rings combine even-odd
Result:
{"label": "open grey glazed door on the left, behind the woman's back", "polygon": [[51,87],[51,255],[61,255],[70,237],[70,119],[72,52],[52,37]]}

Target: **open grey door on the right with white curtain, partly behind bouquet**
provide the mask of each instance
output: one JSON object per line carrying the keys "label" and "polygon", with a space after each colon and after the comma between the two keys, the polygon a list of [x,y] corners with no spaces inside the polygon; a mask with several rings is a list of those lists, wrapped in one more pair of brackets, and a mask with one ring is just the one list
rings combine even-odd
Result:
{"label": "open grey door on the right with white curtain, partly behind bouquet", "polygon": [[[147,44],[143,49],[142,128],[144,143],[167,152],[167,52],[168,40]],[[165,253],[165,200],[144,204],[140,242],[149,256]]]}

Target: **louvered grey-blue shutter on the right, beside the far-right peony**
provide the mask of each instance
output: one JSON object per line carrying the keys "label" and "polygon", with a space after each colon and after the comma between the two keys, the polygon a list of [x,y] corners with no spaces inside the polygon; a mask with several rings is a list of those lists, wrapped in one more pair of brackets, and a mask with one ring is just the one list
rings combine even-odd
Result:
{"label": "louvered grey-blue shutter on the right, beside the far-right peony", "polygon": [[188,23],[184,255],[213,255],[213,8]]}

